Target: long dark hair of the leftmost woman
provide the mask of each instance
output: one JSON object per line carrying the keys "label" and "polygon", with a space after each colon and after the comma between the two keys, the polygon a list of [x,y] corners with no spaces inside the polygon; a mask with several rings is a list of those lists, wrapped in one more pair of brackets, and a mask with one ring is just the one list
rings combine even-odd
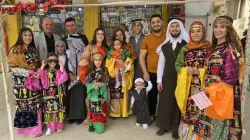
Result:
{"label": "long dark hair of the leftmost woman", "polygon": [[18,34],[18,38],[17,38],[17,41],[16,41],[16,44],[14,46],[19,46],[19,45],[24,45],[24,41],[23,41],[23,33],[24,32],[30,32],[31,35],[32,35],[32,40],[29,44],[30,47],[33,47],[35,50],[36,50],[36,47],[35,47],[35,41],[34,41],[34,36],[33,36],[33,33],[32,31],[29,29],[29,28],[22,28]]}

